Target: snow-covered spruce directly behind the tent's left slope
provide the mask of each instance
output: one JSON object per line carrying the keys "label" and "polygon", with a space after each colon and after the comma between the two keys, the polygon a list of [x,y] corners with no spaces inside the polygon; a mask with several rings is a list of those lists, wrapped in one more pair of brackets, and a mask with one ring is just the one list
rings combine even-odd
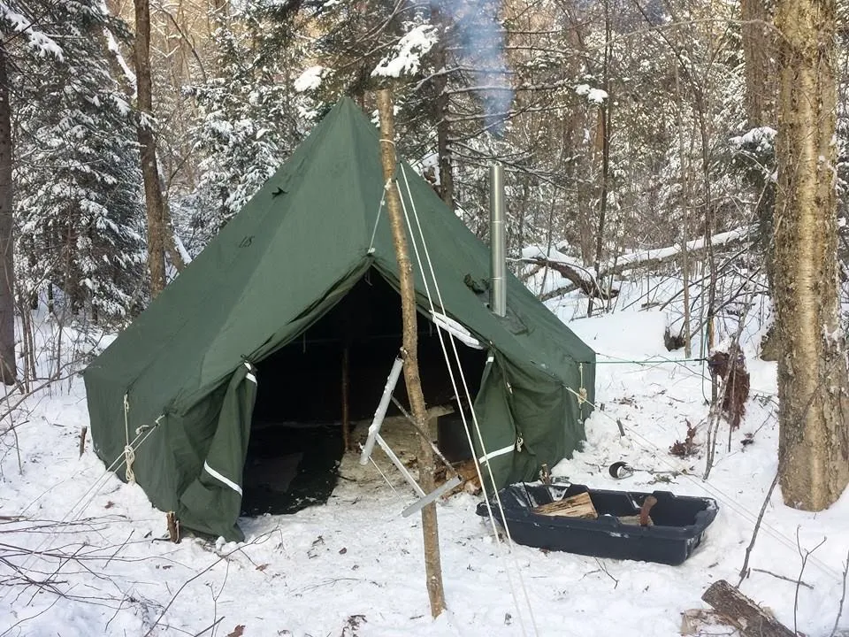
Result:
{"label": "snow-covered spruce directly behind the tent's left slope", "polygon": [[197,253],[254,195],[302,138],[294,91],[294,14],[272,3],[248,4],[218,16],[216,68],[187,88],[198,120],[191,131],[199,154],[198,187],[174,212],[187,248]]}

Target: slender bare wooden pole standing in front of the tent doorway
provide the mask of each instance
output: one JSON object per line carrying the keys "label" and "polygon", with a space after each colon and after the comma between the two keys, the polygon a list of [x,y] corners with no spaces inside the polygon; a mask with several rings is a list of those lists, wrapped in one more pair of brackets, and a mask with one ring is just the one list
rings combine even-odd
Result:
{"label": "slender bare wooden pole standing in front of the tent doorway", "polygon": [[[398,278],[401,288],[401,311],[403,326],[404,381],[407,384],[410,411],[416,426],[430,434],[427,428],[427,409],[424,405],[422,382],[418,375],[416,288],[414,287],[413,265],[407,250],[407,234],[404,231],[401,199],[395,186],[395,131],[392,118],[392,96],[384,89],[378,91],[380,114],[380,158],[386,188],[386,211],[398,258]],[[430,441],[421,439],[418,457],[419,484],[425,493],[435,488],[433,477],[433,449]],[[445,592],[442,587],[442,565],[440,564],[440,534],[436,520],[436,505],[430,503],[422,509],[422,533],[424,534],[424,573],[427,579],[427,595],[431,600],[431,614],[439,617],[445,609]]]}

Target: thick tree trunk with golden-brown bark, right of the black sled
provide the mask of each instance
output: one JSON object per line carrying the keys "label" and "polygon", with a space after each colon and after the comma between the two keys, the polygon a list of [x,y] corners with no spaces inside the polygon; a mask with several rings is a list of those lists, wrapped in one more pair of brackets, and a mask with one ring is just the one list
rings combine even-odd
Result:
{"label": "thick tree trunk with golden-brown bark, right of the black sled", "polygon": [[849,374],[839,321],[834,0],[780,0],[776,326],[784,503],[822,510],[849,482]]}

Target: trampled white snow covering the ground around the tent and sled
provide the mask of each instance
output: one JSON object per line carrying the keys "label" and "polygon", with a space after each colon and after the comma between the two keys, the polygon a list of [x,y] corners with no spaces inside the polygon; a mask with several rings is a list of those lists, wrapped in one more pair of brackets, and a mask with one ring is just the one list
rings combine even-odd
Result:
{"label": "trampled white snow covering the ground around the tent and sled", "polygon": [[[575,315],[566,305],[555,311]],[[599,352],[599,409],[586,423],[585,449],[554,472],[593,487],[715,497],[719,515],[681,566],[523,546],[509,554],[475,514],[478,498],[457,495],[439,505],[448,611],[432,621],[419,518],[401,516],[412,494],[399,488],[396,495],[378,475],[340,480],[323,506],[242,520],[242,544],[162,541],[164,514],[141,488],[104,472],[90,441],[79,457],[88,417],[76,377],[24,405],[16,421],[20,464],[11,434],[0,439],[0,635],[677,635],[680,614],[706,608],[700,595],[713,581],[737,583],[776,471],[776,372],[749,358],[746,420],[731,435],[730,452],[723,424],[715,467],[703,481],[704,454],[680,460],[667,450],[683,439],[687,421],[704,428],[710,386],[699,362],[664,349],[665,321],[661,311],[632,309],[570,322]],[[753,443],[744,447],[747,434]],[[607,467],[616,460],[643,471],[613,480]],[[773,574],[753,570],[743,592],[793,626],[797,533],[802,549],[825,540],[808,559],[802,579],[811,588],[799,589],[796,619],[807,635],[829,635],[847,520],[849,494],[830,510],[807,513],[784,507],[776,489],[750,564]],[[25,586],[22,577],[42,586]]]}

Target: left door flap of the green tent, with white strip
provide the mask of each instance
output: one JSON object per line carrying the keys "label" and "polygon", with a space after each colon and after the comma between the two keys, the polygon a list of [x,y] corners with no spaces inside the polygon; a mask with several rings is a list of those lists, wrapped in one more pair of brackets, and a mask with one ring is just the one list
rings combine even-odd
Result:
{"label": "left door flap of the green tent, with white strip", "polygon": [[255,400],[256,369],[246,361],[230,379],[200,474],[180,495],[177,514],[181,524],[229,541],[244,540],[236,520]]}

